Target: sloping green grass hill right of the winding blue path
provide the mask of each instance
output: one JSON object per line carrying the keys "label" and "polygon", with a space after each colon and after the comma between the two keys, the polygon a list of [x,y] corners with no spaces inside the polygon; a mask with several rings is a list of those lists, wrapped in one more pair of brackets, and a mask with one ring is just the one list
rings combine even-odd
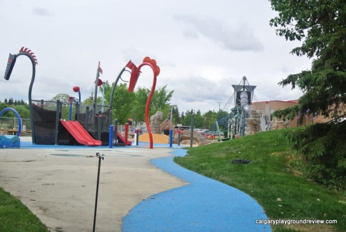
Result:
{"label": "sloping green grass hill right of the winding blue path", "polygon": [[[282,131],[270,131],[188,149],[179,165],[234,186],[256,199],[269,219],[336,219],[336,225],[272,226],[274,231],[345,231],[345,192],[303,179],[292,164],[299,158]],[[232,164],[245,158],[249,164]],[[282,201],[277,201],[281,198]]]}

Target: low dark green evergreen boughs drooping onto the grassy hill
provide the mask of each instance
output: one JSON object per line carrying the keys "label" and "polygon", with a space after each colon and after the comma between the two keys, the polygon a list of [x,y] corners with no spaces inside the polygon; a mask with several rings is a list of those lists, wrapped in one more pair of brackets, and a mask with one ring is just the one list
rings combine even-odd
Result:
{"label": "low dark green evergreen boughs drooping onto the grassy hill", "polygon": [[346,122],[317,123],[283,134],[302,156],[303,177],[346,190]]}

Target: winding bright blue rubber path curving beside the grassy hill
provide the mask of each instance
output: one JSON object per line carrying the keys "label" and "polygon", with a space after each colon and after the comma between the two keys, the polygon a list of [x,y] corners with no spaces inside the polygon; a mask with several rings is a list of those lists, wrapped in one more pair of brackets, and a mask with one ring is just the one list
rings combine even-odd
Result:
{"label": "winding bright blue rubber path curving beside the grassy hill", "polygon": [[[173,156],[152,163],[190,185],[148,197],[123,219],[123,232],[217,231],[270,232],[269,225],[257,225],[268,219],[262,207],[246,193],[180,167],[174,156],[186,150],[174,149]],[[150,180],[148,180],[150,181]]]}

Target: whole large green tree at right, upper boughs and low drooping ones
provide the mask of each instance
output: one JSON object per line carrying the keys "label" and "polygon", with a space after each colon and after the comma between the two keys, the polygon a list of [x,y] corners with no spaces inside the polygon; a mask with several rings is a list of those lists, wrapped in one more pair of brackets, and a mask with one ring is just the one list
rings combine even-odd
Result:
{"label": "whole large green tree at right, upper boughs and low drooping ones", "polygon": [[[298,105],[275,111],[294,118],[301,112],[325,117],[345,116],[346,1],[270,0],[279,15],[270,20],[277,35],[302,41],[291,52],[313,58],[310,70],[291,74],[279,84],[303,91]],[[309,125],[288,131],[287,138],[302,154],[303,176],[333,189],[346,189],[346,121]]]}

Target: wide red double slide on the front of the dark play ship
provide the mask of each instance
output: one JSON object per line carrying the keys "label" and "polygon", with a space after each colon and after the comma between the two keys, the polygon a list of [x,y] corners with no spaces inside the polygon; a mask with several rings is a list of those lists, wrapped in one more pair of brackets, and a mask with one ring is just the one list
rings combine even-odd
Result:
{"label": "wide red double slide on the front of the dark play ship", "polygon": [[93,139],[78,121],[61,121],[61,124],[79,143],[87,146],[100,146],[100,140]]}

